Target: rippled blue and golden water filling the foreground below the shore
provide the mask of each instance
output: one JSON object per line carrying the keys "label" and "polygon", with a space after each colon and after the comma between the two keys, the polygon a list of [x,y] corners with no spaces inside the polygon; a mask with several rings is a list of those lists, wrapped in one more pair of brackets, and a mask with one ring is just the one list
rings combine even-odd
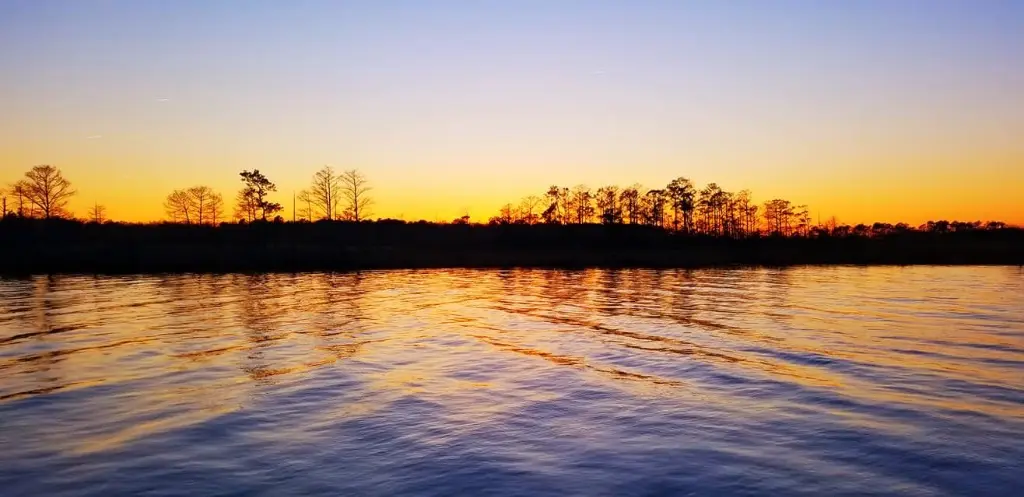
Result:
{"label": "rippled blue and golden water filling the foreground below the shore", "polygon": [[0,494],[1021,495],[1024,271],[0,280]]}

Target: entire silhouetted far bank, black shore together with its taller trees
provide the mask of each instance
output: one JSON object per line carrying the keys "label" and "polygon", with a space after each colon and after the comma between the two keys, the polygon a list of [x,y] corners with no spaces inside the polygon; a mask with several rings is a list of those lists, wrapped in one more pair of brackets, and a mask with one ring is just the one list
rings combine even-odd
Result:
{"label": "entire silhouetted far bank, black shore together with its taller trees", "polygon": [[1024,264],[1024,230],[1000,221],[848,225],[806,206],[677,178],[664,189],[551,187],[486,223],[372,219],[357,170],[325,167],[281,216],[276,188],[242,171],[227,214],[209,187],[175,190],[167,219],[111,221],[95,203],[75,218],[59,169],[33,167],[4,189],[0,272],[321,271],[443,266],[650,266],[801,263]]}

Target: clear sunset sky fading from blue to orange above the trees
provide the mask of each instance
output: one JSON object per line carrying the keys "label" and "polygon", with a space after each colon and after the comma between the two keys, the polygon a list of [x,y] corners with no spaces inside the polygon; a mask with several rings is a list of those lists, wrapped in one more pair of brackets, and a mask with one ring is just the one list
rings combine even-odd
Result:
{"label": "clear sunset sky fading from blue to orange above the trees", "polygon": [[822,218],[1024,223],[1024,2],[0,1],[0,183],[84,215],[175,188],[486,219],[549,184],[684,175]]}

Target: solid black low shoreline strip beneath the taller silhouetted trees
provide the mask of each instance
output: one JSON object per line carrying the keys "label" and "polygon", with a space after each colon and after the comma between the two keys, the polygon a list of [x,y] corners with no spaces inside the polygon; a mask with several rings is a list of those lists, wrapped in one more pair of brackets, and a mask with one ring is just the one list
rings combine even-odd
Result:
{"label": "solid black low shoreline strip beneath the taller silhouetted trees", "polygon": [[1024,230],[957,225],[942,232],[834,235],[821,230],[806,237],[735,238],[639,224],[381,220],[213,226],[8,217],[0,222],[0,273],[1024,264]]}

